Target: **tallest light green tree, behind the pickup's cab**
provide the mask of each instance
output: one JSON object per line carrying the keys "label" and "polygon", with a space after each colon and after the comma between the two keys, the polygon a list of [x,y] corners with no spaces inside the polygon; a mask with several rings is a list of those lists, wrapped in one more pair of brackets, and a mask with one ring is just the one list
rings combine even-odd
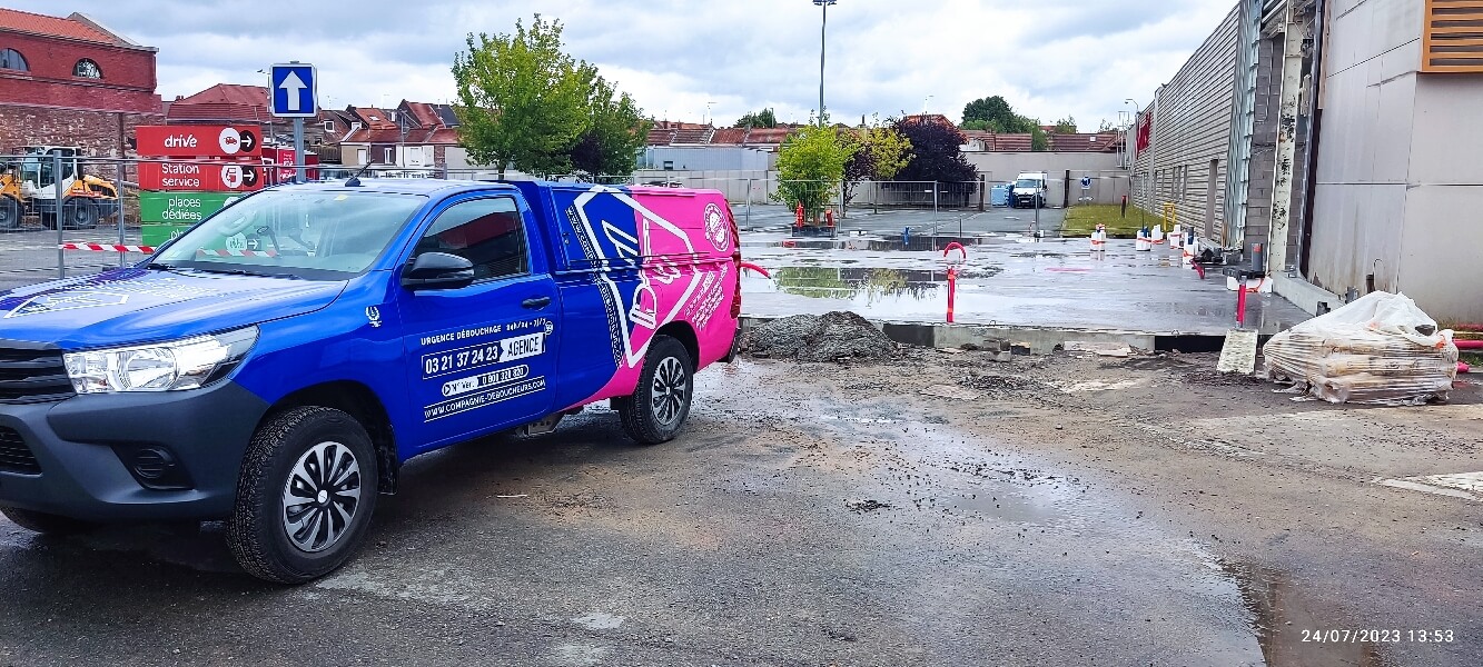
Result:
{"label": "tallest light green tree, behind the pickup's cab", "polygon": [[504,178],[513,165],[529,173],[571,170],[571,151],[587,130],[596,68],[562,52],[562,25],[540,15],[513,34],[469,34],[454,56],[458,142]]}

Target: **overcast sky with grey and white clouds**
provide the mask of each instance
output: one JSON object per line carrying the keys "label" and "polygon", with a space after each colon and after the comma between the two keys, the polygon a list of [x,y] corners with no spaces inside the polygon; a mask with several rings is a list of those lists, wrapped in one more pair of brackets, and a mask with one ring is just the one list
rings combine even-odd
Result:
{"label": "overcast sky with grey and white clouds", "polygon": [[[289,59],[319,67],[323,107],[452,98],[467,33],[509,33],[540,10],[567,50],[593,62],[645,114],[730,125],[773,107],[819,105],[820,7],[810,0],[10,0],[85,12],[159,53],[171,99],[215,83],[265,84]],[[833,120],[942,113],[1004,95],[1016,111],[1081,130],[1146,105],[1234,0],[838,0],[828,9],[825,104]],[[107,73],[105,73],[107,74]],[[709,116],[707,116],[709,105]]]}

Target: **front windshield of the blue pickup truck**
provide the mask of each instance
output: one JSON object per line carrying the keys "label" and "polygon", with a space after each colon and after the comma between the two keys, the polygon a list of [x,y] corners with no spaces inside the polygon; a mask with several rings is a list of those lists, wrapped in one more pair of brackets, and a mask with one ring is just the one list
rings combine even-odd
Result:
{"label": "front windshield of the blue pickup truck", "polygon": [[343,279],[365,271],[427,197],[268,190],[193,227],[153,264]]}

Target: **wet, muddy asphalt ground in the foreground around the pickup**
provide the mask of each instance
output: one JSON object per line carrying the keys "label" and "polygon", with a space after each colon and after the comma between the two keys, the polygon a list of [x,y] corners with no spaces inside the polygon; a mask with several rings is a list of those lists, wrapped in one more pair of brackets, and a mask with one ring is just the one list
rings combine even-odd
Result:
{"label": "wet, muddy asphalt ground in the foreground around the pickup", "polygon": [[[1483,655],[1477,505],[1370,483],[1476,459],[1477,415],[1456,411],[1477,406],[1401,414],[1351,443],[1367,434],[1354,419],[1381,411],[1299,405],[1169,360],[902,357],[706,371],[667,445],[632,446],[614,414],[589,411],[552,436],[415,459],[363,553],[297,588],[239,572],[217,525],[55,540],[0,519],[0,664]],[[921,396],[960,379],[988,388]],[[1315,430],[1287,439],[1287,418]],[[1367,454],[1336,464],[1338,443]],[[1372,627],[1452,640],[1298,639]]]}

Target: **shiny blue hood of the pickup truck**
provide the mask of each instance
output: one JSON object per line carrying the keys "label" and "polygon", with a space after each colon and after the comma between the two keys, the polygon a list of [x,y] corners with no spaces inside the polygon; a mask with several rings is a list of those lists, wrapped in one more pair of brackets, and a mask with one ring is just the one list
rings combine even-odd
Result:
{"label": "shiny blue hood of the pickup truck", "polygon": [[313,313],[344,288],[344,282],[119,268],[0,292],[0,339],[80,350],[188,338]]}

